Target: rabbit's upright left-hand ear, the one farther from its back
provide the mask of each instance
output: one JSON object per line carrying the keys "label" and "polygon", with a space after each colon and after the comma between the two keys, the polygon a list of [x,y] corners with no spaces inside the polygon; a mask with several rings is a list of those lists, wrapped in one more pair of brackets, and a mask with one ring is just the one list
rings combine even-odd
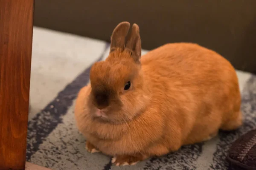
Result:
{"label": "rabbit's upright left-hand ear, the one farther from its back", "polygon": [[128,22],[122,22],[116,26],[111,36],[110,51],[114,51],[116,48],[124,50],[125,38],[128,34],[129,28],[130,23]]}

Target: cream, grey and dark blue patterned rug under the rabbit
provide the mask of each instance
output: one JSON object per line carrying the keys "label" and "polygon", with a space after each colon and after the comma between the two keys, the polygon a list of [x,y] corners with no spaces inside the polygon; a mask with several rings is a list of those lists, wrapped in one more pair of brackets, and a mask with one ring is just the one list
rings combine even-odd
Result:
{"label": "cream, grey and dark blue patterned rug under the rabbit", "polygon": [[106,42],[34,28],[27,161],[52,170],[227,170],[230,144],[256,128],[256,76],[237,71],[245,118],[239,130],[135,166],[115,167],[110,157],[87,153],[73,111],[90,66],[108,53]]}

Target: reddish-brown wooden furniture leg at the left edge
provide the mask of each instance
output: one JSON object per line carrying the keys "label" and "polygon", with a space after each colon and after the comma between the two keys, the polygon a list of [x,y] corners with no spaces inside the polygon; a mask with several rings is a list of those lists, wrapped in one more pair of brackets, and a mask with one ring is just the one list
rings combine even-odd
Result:
{"label": "reddish-brown wooden furniture leg at the left edge", "polygon": [[0,170],[24,170],[34,0],[0,0]]}

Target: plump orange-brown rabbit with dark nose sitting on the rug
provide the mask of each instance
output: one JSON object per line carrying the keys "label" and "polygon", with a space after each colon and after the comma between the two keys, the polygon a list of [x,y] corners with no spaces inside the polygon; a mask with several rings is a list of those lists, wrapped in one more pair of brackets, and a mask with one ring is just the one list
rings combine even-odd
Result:
{"label": "plump orange-brown rabbit with dark nose sitting on the rug", "polygon": [[141,57],[139,26],[113,30],[109,56],[92,65],[75,119],[90,153],[133,165],[242,125],[236,71],[215,51],[169,43]]}

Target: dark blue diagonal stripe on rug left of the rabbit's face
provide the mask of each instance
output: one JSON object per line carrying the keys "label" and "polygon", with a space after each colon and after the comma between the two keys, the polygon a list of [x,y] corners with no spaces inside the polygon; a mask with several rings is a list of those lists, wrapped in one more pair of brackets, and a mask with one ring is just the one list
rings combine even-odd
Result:
{"label": "dark blue diagonal stripe on rug left of the rabbit's face", "polygon": [[[109,44],[106,43],[104,51],[100,55],[98,61],[102,60],[105,52],[108,50]],[[27,153],[26,160],[29,161],[31,156],[38,151],[40,144],[44,142],[47,136],[62,123],[62,116],[73,104],[80,89],[89,82],[90,68],[84,70],[76,79],[68,84],[64,90],[60,91],[55,99],[52,100],[41,112],[28,122],[27,135]],[[58,108],[58,109],[57,109]]]}

